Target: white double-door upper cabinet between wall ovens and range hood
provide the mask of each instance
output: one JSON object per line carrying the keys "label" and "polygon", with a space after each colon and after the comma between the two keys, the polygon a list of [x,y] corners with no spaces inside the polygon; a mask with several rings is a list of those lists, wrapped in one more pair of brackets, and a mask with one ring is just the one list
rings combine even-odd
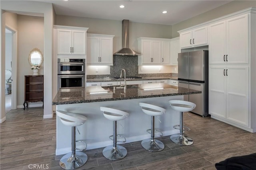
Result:
{"label": "white double-door upper cabinet between wall ovens and range hood", "polygon": [[113,65],[114,35],[87,35],[87,64]]}

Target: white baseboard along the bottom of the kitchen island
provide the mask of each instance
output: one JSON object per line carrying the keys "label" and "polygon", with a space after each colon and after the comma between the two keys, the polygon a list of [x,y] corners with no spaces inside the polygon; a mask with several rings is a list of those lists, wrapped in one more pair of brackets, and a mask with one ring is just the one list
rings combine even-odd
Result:
{"label": "white baseboard along the bottom of the kitchen island", "polygon": [[[162,133],[163,133],[164,136],[170,136],[170,135],[173,135],[173,134],[178,134],[178,133],[180,133],[180,131],[174,129],[174,130],[171,130],[171,131],[164,131]],[[148,134],[147,135],[135,136],[135,137],[128,137],[128,138],[126,138],[125,143],[142,141],[143,139],[148,139],[148,137],[149,137]],[[113,141],[108,140],[108,141],[104,141],[104,142],[91,143],[91,144],[87,144],[87,149],[86,150],[107,147],[109,145],[113,145]],[[68,147],[68,148],[56,149],[55,154],[56,155],[61,155],[61,154],[67,154],[69,152],[71,152],[71,146]]]}

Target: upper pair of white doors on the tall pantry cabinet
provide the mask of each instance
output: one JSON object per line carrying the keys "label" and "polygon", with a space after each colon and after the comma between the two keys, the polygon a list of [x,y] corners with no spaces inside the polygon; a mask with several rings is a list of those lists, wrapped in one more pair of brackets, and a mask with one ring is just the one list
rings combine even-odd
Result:
{"label": "upper pair of white doors on the tall pantry cabinet", "polygon": [[248,64],[248,14],[209,25],[209,64]]}

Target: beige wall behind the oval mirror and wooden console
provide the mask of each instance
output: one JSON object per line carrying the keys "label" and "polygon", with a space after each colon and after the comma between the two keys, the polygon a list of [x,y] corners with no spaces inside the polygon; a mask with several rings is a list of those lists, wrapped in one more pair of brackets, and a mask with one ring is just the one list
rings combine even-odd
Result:
{"label": "beige wall behind the oval mirror and wooden console", "polygon": [[[18,106],[24,102],[24,75],[33,74],[28,56],[34,48],[40,49],[44,56],[44,18],[18,15]],[[44,74],[43,65],[39,74]]]}

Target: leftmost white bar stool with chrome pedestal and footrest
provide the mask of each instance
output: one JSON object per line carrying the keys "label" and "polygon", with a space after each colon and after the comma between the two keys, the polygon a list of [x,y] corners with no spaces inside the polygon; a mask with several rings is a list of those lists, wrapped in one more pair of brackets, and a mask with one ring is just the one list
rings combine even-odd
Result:
{"label": "leftmost white bar stool with chrome pedestal and footrest", "polygon": [[[80,114],[70,113],[61,110],[56,110],[56,114],[58,115],[58,117],[60,117],[60,121],[64,125],[72,127],[72,152],[62,156],[62,158],[60,159],[60,166],[66,170],[73,170],[79,168],[86,163],[88,156],[84,152],[76,152],[76,127],[84,124],[87,118]],[[86,143],[84,144],[86,145]]]}

